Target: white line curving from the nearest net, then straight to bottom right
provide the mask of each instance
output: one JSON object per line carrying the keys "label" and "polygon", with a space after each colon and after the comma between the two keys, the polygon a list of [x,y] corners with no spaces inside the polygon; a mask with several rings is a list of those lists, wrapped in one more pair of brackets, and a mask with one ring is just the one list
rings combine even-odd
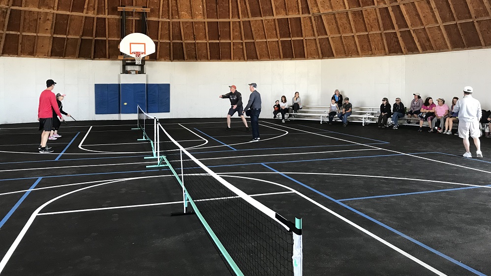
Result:
{"label": "white line curving from the nearest net, then straight to bottom right", "polygon": [[[284,173],[284,172],[283,172]],[[368,236],[374,238],[375,240],[381,242],[382,244],[386,245],[387,247],[389,248],[392,248],[394,250],[396,250],[397,252],[399,252],[400,254],[402,254],[403,256],[411,259],[412,261],[416,262],[417,264],[423,266],[424,268],[430,270],[431,272],[433,272],[434,274],[436,275],[440,275],[440,276],[446,276],[444,273],[442,273],[441,271],[431,267],[430,265],[428,265],[427,263],[421,261],[420,259],[414,257],[413,255],[407,253],[406,251],[396,247],[395,245],[387,242],[386,240],[380,238],[379,236],[373,234],[372,232],[368,231],[367,229],[361,227],[360,225],[354,223],[353,221],[350,221],[348,219],[346,219],[345,217],[339,215],[338,213],[332,211],[331,209],[323,206],[322,204],[318,203],[317,201],[309,198],[308,196],[304,195],[303,193],[300,193],[300,192],[297,192],[295,191],[294,189],[292,188],[289,188],[287,186],[284,186],[284,185],[281,185],[281,184],[278,184],[278,183],[275,183],[275,182],[271,182],[271,181],[267,181],[267,180],[262,180],[262,179],[256,179],[256,178],[250,178],[250,177],[244,177],[244,176],[234,176],[234,175],[223,175],[221,174],[221,176],[225,176],[225,177],[237,177],[237,178],[243,178],[243,179],[252,179],[252,180],[257,180],[257,181],[262,181],[262,182],[266,182],[266,183],[270,183],[270,184],[274,184],[274,185],[277,185],[277,186],[280,186],[280,187],[283,187],[285,189],[288,189],[290,191],[292,191],[293,193],[296,193],[298,195],[300,195],[301,197],[307,199],[308,201],[310,201],[311,203],[317,205],[318,207],[322,208],[323,210],[329,212],[331,215],[334,215],[335,217],[337,217],[338,219],[350,224],[351,226],[355,227],[356,229],[364,232],[365,234],[367,234]]]}

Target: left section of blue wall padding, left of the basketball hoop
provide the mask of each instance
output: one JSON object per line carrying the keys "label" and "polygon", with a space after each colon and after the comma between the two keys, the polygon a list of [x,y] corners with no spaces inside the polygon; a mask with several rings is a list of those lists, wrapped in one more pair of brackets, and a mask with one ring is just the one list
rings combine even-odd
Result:
{"label": "left section of blue wall padding, left of the basketball hoop", "polygon": [[95,84],[95,114],[120,113],[120,84]]}

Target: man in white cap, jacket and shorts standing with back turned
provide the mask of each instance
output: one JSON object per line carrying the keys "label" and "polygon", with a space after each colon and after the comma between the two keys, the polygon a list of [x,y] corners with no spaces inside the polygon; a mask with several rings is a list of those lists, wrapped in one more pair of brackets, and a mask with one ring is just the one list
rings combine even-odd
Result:
{"label": "man in white cap, jacket and shorts standing with back turned", "polygon": [[465,153],[463,157],[472,158],[470,153],[470,137],[474,139],[476,145],[477,157],[482,158],[481,152],[481,130],[479,129],[479,121],[483,115],[481,110],[481,103],[472,97],[472,87],[464,87],[464,97],[460,99],[454,107],[454,112],[459,112],[459,137],[463,139]]}

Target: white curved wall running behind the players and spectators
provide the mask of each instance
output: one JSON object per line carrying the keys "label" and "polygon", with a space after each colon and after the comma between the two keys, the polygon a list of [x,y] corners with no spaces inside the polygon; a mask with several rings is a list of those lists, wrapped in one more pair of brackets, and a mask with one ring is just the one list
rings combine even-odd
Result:
{"label": "white curved wall running behind the players and spectators", "polygon": [[[491,49],[449,53],[260,62],[147,62],[148,83],[171,84],[171,112],[160,118],[224,117],[229,107],[218,95],[235,84],[244,98],[258,84],[261,117],[269,118],[281,95],[299,91],[304,105],[327,105],[335,89],[354,106],[379,106],[382,97],[404,104],[412,93],[461,97],[463,86],[491,108]],[[67,94],[63,107],[77,120],[119,119],[94,113],[94,83],[119,83],[121,61],[0,57],[0,123],[35,122],[39,93],[47,79]],[[131,116],[130,116],[131,117]],[[125,118],[125,117],[123,117]]]}

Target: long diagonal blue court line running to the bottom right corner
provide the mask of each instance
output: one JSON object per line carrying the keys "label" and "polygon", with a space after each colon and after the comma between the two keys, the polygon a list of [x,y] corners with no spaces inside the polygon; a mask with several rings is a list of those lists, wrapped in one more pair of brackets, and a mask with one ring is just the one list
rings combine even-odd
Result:
{"label": "long diagonal blue court line running to the bottom right corner", "polygon": [[483,273],[481,273],[481,272],[479,272],[479,271],[477,271],[477,270],[475,270],[475,269],[473,269],[473,268],[471,268],[471,267],[469,267],[469,266],[467,266],[467,265],[459,262],[458,260],[456,260],[456,259],[454,259],[454,258],[452,258],[450,256],[447,256],[444,253],[442,253],[442,252],[440,252],[440,251],[438,251],[436,249],[430,248],[429,246],[427,246],[427,245],[425,245],[425,244],[423,244],[423,243],[421,243],[421,242],[419,242],[419,241],[417,241],[417,240],[415,240],[415,239],[413,239],[413,238],[411,238],[411,237],[409,237],[409,236],[407,236],[407,235],[399,232],[398,230],[396,230],[396,229],[394,229],[394,228],[392,228],[392,227],[390,227],[390,226],[388,226],[388,225],[386,225],[386,224],[384,224],[384,223],[382,223],[380,221],[377,221],[377,220],[375,220],[375,219],[373,219],[373,218],[365,215],[364,213],[362,213],[362,212],[360,212],[360,211],[358,211],[358,210],[356,210],[356,209],[354,209],[354,208],[352,208],[352,207],[350,207],[350,206],[348,206],[348,205],[340,202],[339,200],[336,200],[336,199],[332,198],[331,196],[329,196],[329,195],[327,195],[325,193],[321,193],[321,192],[319,192],[319,191],[317,191],[317,190],[315,190],[315,189],[307,186],[306,184],[304,184],[304,183],[302,183],[302,182],[300,182],[300,181],[298,181],[296,179],[293,179],[293,178],[289,177],[288,175],[285,175],[284,173],[281,173],[281,172],[277,171],[276,169],[274,169],[274,168],[272,168],[270,166],[266,166],[264,164],[262,164],[262,165],[265,166],[265,167],[267,167],[267,168],[269,168],[269,169],[271,169],[272,171],[275,171],[278,174],[280,174],[280,175],[282,175],[282,176],[290,179],[291,181],[293,181],[293,182],[295,182],[297,184],[300,184],[300,185],[304,186],[305,188],[307,188],[307,189],[309,189],[309,190],[311,190],[311,191],[313,191],[315,193],[318,193],[318,194],[324,196],[325,198],[328,198],[329,200],[331,200],[333,202],[338,203],[339,205],[343,206],[344,208],[346,208],[348,210],[351,210],[351,211],[355,212],[356,214],[358,214],[358,215],[360,215],[360,216],[362,216],[362,217],[364,217],[364,218],[366,218],[366,219],[368,219],[370,221],[373,221],[373,222],[377,223],[378,225],[380,225],[380,226],[382,226],[382,227],[384,227],[384,228],[386,228],[386,229],[388,229],[388,230],[390,230],[390,231],[398,234],[399,236],[401,236],[403,238],[406,238],[407,240],[409,240],[409,241],[411,241],[411,242],[413,242],[413,243],[415,243],[415,244],[417,244],[417,245],[419,245],[419,246],[421,246],[421,247],[429,250],[430,252],[435,253],[435,254],[437,254],[437,255],[439,255],[439,256],[441,256],[441,257],[443,257],[443,258],[451,261],[452,263],[454,263],[454,264],[456,264],[456,265],[458,265],[458,266],[460,266],[460,267],[462,267],[462,268],[464,268],[464,269],[466,269],[466,270],[468,270],[468,271],[470,271],[470,272],[472,272],[474,274],[477,274],[479,276],[486,276],[485,274],[483,274]]}

